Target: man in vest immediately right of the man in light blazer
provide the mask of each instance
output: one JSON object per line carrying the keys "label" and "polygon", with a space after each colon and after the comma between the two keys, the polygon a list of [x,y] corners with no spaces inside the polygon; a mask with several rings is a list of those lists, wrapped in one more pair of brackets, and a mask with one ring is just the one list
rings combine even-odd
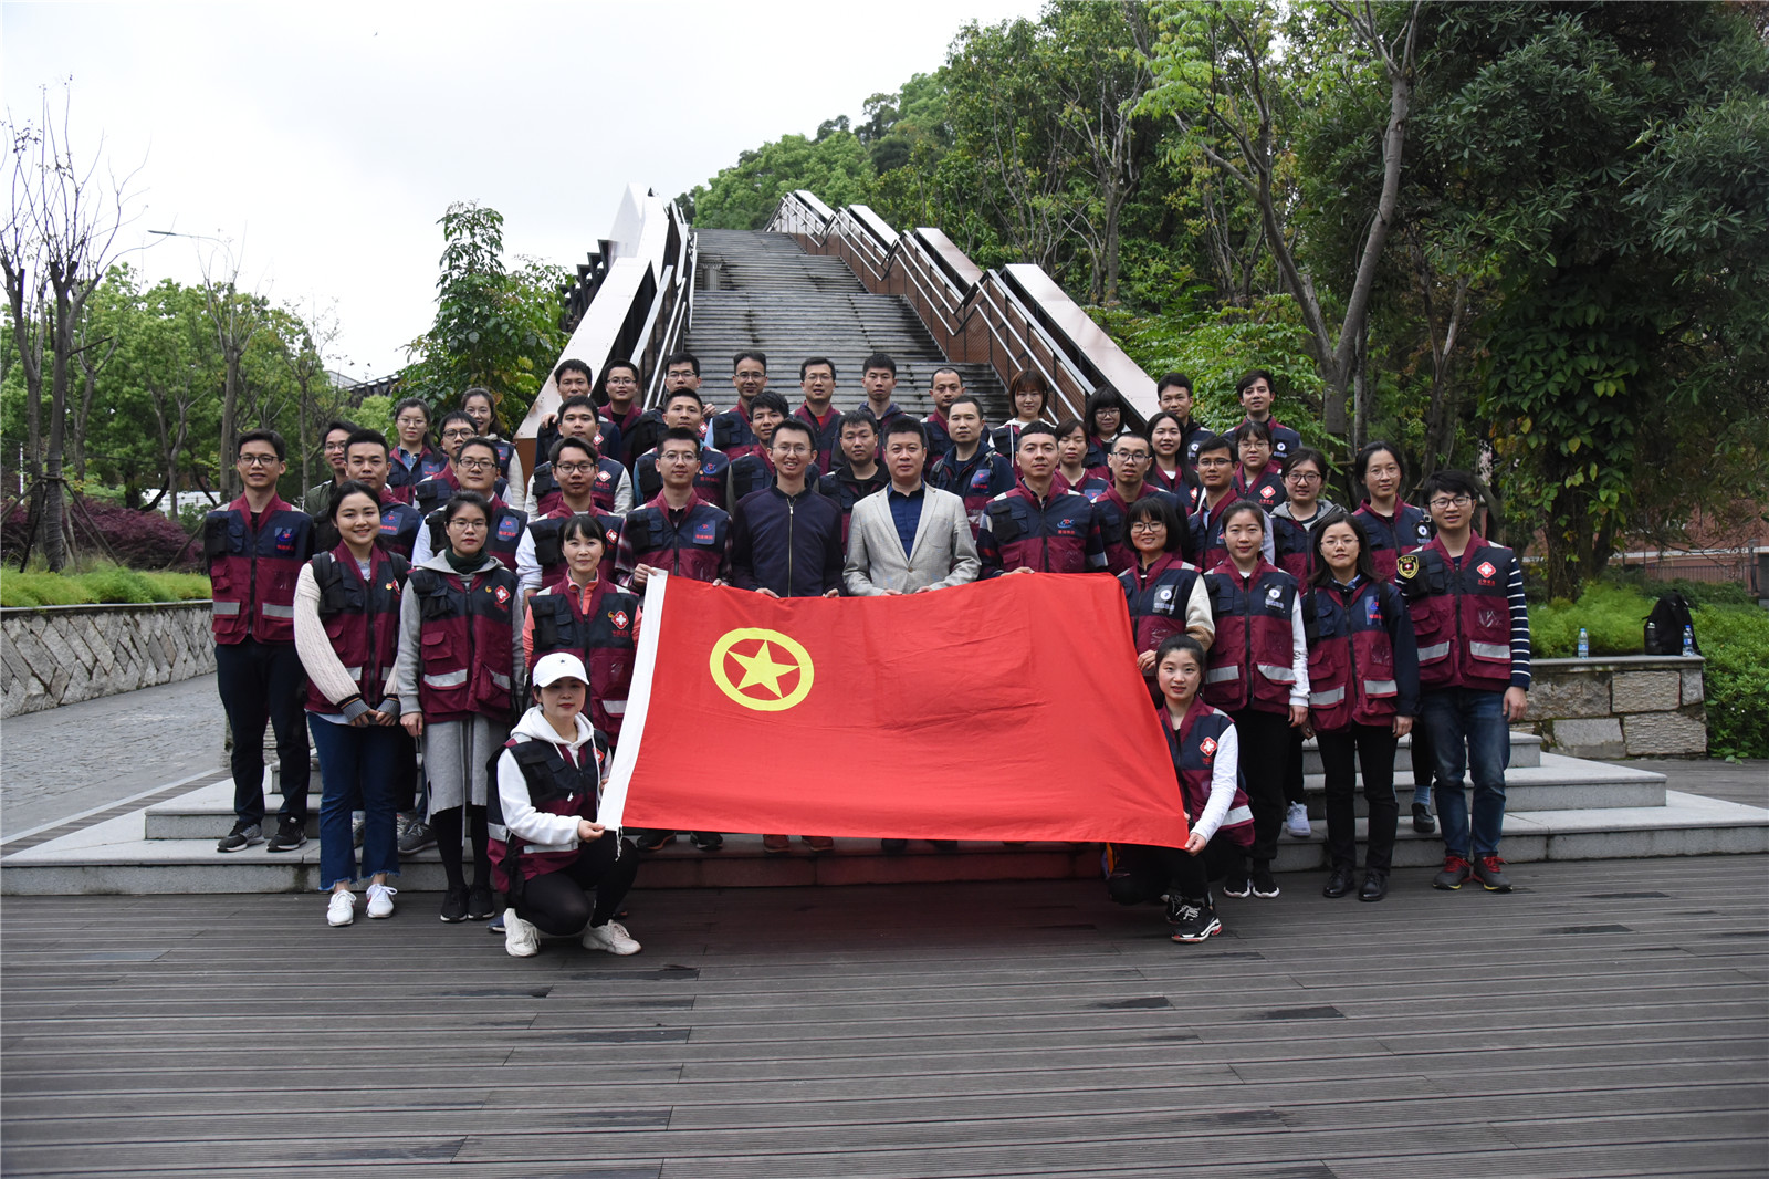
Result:
{"label": "man in vest immediately right of the man in light blazer", "polygon": [[1056,492],[1056,428],[1019,428],[1019,483],[989,501],[976,533],[982,577],[1104,574],[1106,542],[1086,496]]}

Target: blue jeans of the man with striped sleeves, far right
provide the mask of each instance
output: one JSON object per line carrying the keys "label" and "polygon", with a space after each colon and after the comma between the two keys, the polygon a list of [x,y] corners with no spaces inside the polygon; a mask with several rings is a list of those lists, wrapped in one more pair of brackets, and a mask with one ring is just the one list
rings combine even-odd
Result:
{"label": "blue jeans of the man with striped sleeves, far right", "polygon": [[[1511,726],[1504,692],[1436,689],[1424,694],[1419,722],[1436,754],[1438,821],[1444,852],[1461,859],[1498,853],[1505,827],[1505,767],[1511,765]],[[1467,756],[1465,752],[1467,751]],[[1463,767],[1474,777],[1474,814],[1463,791]],[[1470,843],[1474,855],[1468,855]]]}

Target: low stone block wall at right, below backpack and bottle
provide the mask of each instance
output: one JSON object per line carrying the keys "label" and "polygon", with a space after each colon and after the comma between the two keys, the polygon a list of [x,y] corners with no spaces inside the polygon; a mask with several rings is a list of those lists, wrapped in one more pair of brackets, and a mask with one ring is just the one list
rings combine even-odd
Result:
{"label": "low stone block wall at right, below backpack and bottle", "polygon": [[1700,655],[1537,659],[1530,726],[1574,758],[1707,752]]}

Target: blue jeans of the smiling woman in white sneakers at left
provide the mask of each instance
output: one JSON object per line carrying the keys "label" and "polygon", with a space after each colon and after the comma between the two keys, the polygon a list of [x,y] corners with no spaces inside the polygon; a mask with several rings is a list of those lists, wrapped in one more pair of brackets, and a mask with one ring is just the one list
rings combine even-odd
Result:
{"label": "blue jeans of the smiling woman in white sneakers at left", "polygon": [[[400,777],[400,729],[370,724],[350,728],[310,715],[313,749],[320,756],[320,890],[354,883],[375,873],[400,873],[393,830],[394,788]],[[363,811],[363,875],[356,871],[350,813]]]}

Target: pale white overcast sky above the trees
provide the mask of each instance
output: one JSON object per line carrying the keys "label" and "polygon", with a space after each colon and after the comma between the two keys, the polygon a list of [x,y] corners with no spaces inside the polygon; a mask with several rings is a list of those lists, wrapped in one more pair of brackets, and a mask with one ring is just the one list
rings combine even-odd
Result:
{"label": "pale white overcast sky above the trees", "polygon": [[504,214],[506,258],[575,266],[640,182],[674,196],[782,135],[938,69],[968,21],[1037,0],[833,4],[5,4],[12,120],[73,80],[76,152],[142,165],[129,255],[196,281],[226,237],[244,285],[334,304],[334,368],[384,375],[433,312],[435,221]]}

